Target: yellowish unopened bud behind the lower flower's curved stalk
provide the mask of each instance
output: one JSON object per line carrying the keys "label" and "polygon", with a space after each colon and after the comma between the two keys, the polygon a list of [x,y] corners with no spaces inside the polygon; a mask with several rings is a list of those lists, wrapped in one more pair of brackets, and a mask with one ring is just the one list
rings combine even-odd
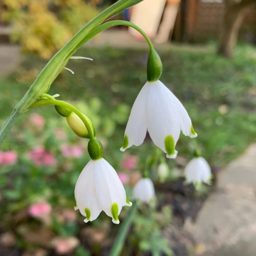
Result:
{"label": "yellowish unopened bud behind the lower flower's curved stalk", "polygon": [[[94,136],[95,136],[95,129],[94,129],[93,123],[86,115],[84,115],[84,118],[87,120],[91,129],[94,131]],[[76,115],[74,112],[71,112],[66,117],[66,119],[67,119],[67,122],[68,122],[70,128],[73,130],[73,132],[77,136],[82,137],[82,138],[90,138],[85,124],[83,123],[83,121],[80,119],[80,117],[78,115]]]}

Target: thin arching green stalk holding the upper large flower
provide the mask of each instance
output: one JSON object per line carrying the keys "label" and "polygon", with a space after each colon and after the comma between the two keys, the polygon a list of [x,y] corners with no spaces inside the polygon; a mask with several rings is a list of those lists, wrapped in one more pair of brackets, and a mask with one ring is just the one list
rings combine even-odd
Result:
{"label": "thin arching green stalk holding the upper large flower", "polygon": [[91,30],[91,32],[87,35],[87,39],[90,40],[93,37],[95,37],[95,35],[99,34],[100,32],[102,32],[108,28],[115,27],[115,26],[127,26],[127,27],[136,29],[146,39],[150,49],[154,49],[154,46],[153,46],[150,38],[147,36],[147,34],[141,28],[139,28],[137,25],[135,25],[131,22],[128,22],[126,20],[112,20],[110,22],[106,22],[106,23],[100,25],[99,27]]}

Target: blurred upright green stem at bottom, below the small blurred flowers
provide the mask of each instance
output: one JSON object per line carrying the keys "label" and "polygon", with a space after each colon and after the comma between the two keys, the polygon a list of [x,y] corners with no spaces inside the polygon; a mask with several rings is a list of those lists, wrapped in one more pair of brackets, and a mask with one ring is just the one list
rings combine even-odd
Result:
{"label": "blurred upright green stem at bottom, below the small blurred flowers", "polygon": [[120,229],[118,230],[116,239],[111,247],[109,256],[120,255],[136,212],[137,212],[137,203],[133,202],[131,209],[128,212],[128,215],[126,216],[124,222],[122,223],[122,225],[120,226]]}

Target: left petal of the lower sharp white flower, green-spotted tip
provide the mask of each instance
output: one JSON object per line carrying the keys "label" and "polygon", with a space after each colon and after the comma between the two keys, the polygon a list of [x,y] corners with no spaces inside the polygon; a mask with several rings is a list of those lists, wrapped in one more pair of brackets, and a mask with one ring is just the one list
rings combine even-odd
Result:
{"label": "left petal of the lower sharp white flower, green-spotted tip", "polygon": [[95,220],[101,212],[95,192],[95,170],[95,161],[90,160],[75,185],[76,208],[86,216],[85,222]]}

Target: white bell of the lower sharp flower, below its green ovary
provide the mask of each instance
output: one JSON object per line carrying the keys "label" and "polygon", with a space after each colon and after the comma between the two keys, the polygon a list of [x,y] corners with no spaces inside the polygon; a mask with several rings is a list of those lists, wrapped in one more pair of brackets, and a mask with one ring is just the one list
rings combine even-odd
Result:
{"label": "white bell of the lower sharp flower, below its green ovary", "polygon": [[90,160],[81,172],[75,185],[75,210],[94,221],[104,211],[119,224],[118,215],[123,206],[131,206],[114,168],[103,158]]}

